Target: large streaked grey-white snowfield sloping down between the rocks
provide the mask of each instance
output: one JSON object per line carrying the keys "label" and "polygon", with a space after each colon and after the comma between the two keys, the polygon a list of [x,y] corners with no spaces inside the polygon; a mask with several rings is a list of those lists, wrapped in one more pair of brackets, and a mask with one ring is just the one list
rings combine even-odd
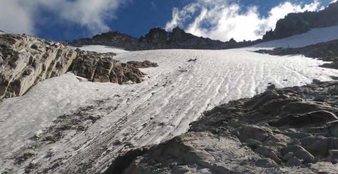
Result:
{"label": "large streaked grey-white snowfield sloping down between the rocks", "polygon": [[[327,30],[316,29],[311,34],[241,49],[120,52],[115,59],[122,62],[150,60],[159,64],[156,68],[141,69],[147,75],[138,84],[93,83],[72,73],[40,82],[24,96],[5,99],[0,104],[0,172],[13,168],[24,173],[28,163],[13,165],[11,158],[20,150],[34,146],[35,141],[30,138],[53,125],[58,116],[80,107],[94,105],[87,112],[102,118],[86,131],[70,131],[56,143],[34,146],[37,155],[33,163],[38,164],[37,169],[51,168],[59,160],[62,165],[55,173],[101,172],[118,154],[180,135],[204,111],[262,93],[270,82],[284,87],[304,85],[312,79],[330,80],[329,76],[338,76],[338,71],[319,68],[323,61],[302,55],[251,52],[261,48],[297,47],[294,43],[303,47],[314,44],[309,41],[314,37],[316,42],[338,39],[332,35],[322,37],[325,33],[332,34]],[[335,32],[334,36],[338,37],[337,27]],[[105,46],[82,49],[116,51]],[[187,61],[195,58],[196,61]]]}

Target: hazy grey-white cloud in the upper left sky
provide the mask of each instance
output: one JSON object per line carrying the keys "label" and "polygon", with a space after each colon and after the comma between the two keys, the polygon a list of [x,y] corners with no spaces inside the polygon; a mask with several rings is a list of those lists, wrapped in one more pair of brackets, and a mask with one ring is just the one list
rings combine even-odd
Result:
{"label": "hazy grey-white cloud in the upper left sky", "polygon": [[[53,22],[79,25],[92,33],[109,30],[105,20],[115,18],[123,0],[2,0],[0,29],[36,34],[35,26],[48,12]],[[48,25],[48,23],[46,24]]]}

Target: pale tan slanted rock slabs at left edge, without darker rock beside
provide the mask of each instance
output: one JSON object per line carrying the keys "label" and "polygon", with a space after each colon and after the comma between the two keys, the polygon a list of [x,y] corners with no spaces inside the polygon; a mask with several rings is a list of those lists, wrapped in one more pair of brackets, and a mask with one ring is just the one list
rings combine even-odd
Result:
{"label": "pale tan slanted rock slabs at left edge, without darker rock beside", "polygon": [[33,84],[68,71],[75,50],[28,35],[0,35],[0,98],[21,96]]}

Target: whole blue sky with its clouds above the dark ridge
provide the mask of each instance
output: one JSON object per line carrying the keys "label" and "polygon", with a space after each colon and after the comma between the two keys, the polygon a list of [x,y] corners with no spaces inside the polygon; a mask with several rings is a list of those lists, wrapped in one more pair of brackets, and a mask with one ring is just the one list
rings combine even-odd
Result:
{"label": "whole blue sky with its clouds above the dark ridge", "polygon": [[[154,27],[170,31],[173,27],[180,26],[195,35],[224,41],[230,37],[238,40],[259,38],[263,31],[273,28],[272,24],[284,16],[284,13],[319,10],[332,2],[332,0],[61,0],[61,3],[58,0],[3,1],[4,5],[0,7],[0,30],[11,33],[28,33],[52,40],[72,40],[109,30],[139,37]],[[272,14],[273,8],[275,12]],[[187,9],[194,9],[194,12]],[[173,10],[178,18],[174,19]],[[223,13],[226,11],[234,14]]]}

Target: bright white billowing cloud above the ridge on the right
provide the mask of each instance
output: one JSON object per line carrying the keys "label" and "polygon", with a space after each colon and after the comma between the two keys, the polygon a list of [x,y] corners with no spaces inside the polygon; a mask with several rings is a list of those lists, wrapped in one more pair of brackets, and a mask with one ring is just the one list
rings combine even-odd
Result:
{"label": "bright white billowing cloud above the ridge on the right", "polygon": [[255,40],[274,29],[277,20],[288,13],[322,8],[318,0],[305,5],[284,2],[270,9],[268,16],[261,16],[258,6],[243,9],[229,0],[196,0],[182,9],[174,8],[173,18],[167,22],[165,30],[179,26],[188,33],[212,39]]}

